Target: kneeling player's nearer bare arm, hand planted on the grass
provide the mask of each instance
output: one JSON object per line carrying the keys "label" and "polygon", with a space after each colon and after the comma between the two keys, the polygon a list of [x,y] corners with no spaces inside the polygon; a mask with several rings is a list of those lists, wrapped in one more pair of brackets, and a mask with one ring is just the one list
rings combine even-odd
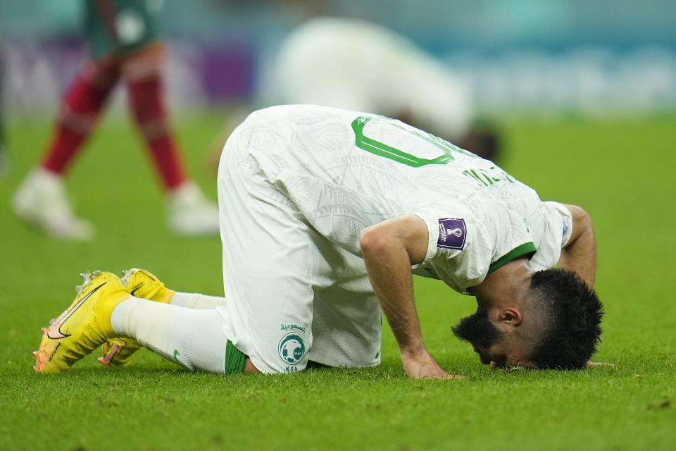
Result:
{"label": "kneeling player's nearer bare arm, hand planted on the grass", "polygon": [[427,226],[418,216],[389,219],[361,231],[359,242],[375,295],[399,344],[406,374],[458,378],[442,370],[425,349],[413,302],[411,265],[425,259]]}

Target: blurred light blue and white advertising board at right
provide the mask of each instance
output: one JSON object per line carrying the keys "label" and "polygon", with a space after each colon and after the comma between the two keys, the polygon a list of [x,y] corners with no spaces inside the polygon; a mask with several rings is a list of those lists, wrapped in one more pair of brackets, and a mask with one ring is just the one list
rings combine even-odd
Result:
{"label": "blurred light blue and white advertising board at right", "polygon": [[451,54],[446,61],[470,82],[484,111],[626,115],[676,109],[676,53],[665,48]]}

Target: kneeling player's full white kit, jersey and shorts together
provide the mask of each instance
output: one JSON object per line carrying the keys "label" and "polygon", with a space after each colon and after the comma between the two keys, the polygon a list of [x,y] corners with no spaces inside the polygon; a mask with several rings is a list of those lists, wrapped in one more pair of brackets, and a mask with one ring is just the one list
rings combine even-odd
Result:
{"label": "kneeling player's full white kit, jersey and shorts together", "polygon": [[225,334],[264,372],[379,362],[380,306],[359,233],[415,214],[422,276],[458,292],[518,257],[555,266],[572,231],[492,161],[382,116],[322,106],[256,111],[219,168]]}

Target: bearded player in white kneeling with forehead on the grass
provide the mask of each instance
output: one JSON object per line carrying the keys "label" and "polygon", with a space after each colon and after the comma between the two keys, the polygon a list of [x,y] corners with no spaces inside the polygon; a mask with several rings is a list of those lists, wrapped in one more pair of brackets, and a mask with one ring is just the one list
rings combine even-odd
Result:
{"label": "bearded player in white kneeling with forehead on the grass", "polygon": [[460,378],[425,349],[412,274],[475,297],[453,333],[493,368],[583,369],[596,350],[584,210],[543,202],[492,161],[401,121],[256,111],[225,143],[218,197],[223,297],[168,290],[139,269],[89,274],[43,329],[36,370],[64,371],[101,345],[106,365],[144,346],[218,373],[374,366],[384,313],[408,376]]}

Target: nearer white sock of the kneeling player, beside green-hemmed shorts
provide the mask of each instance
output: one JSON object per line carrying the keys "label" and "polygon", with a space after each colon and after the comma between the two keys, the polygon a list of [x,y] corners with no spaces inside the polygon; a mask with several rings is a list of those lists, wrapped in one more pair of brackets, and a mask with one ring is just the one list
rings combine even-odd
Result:
{"label": "nearer white sock of the kneeling player, beside green-hemmed shorts", "polygon": [[188,309],[139,297],[120,302],[111,315],[120,337],[194,371],[225,371],[223,318],[215,310]]}

